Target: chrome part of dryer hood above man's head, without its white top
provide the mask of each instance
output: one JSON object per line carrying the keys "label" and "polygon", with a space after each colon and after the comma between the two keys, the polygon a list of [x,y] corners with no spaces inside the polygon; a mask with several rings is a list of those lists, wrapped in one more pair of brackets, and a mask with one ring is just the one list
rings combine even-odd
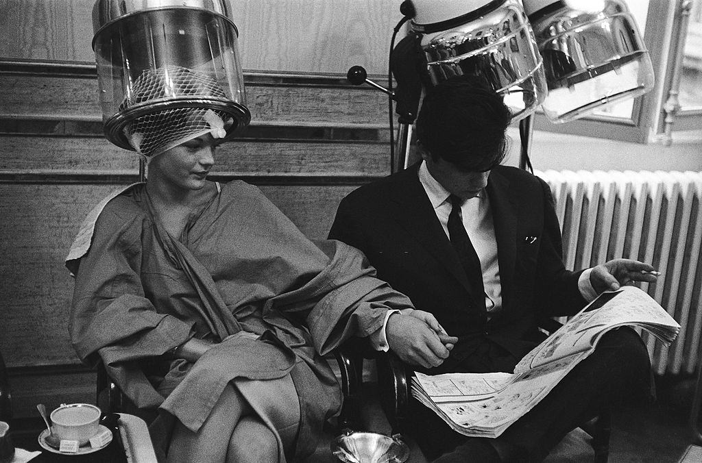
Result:
{"label": "chrome part of dryer hood above man's head, without its white top", "polygon": [[420,37],[432,84],[463,74],[484,76],[505,96],[513,119],[528,116],[546,94],[541,55],[522,5],[507,0],[498,8],[451,29]]}

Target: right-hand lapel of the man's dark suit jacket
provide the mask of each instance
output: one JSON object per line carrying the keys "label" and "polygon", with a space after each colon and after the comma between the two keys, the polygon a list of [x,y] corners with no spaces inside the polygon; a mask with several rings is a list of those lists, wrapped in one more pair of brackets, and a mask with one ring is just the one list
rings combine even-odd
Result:
{"label": "right-hand lapel of the man's dark suit jacket", "polygon": [[517,205],[515,198],[509,194],[509,187],[509,180],[499,170],[490,173],[486,190],[495,227],[503,309],[508,309],[512,302],[517,254]]}

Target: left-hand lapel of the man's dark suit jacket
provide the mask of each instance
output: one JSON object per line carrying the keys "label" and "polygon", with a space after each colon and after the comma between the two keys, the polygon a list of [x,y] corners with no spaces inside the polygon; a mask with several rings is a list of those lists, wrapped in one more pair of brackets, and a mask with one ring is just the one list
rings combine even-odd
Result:
{"label": "left-hand lapel of the man's dark suit jacket", "polygon": [[419,182],[418,166],[416,164],[397,174],[396,188],[390,198],[392,209],[388,214],[472,294],[468,276]]}

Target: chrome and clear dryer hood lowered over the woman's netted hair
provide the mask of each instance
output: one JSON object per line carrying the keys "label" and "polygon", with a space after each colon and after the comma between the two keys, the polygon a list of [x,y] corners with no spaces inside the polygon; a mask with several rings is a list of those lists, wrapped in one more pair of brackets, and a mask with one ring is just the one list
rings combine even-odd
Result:
{"label": "chrome and clear dryer hood lowered over the woman's netted hair", "polygon": [[173,109],[218,121],[213,135],[223,140],[249,123],[225,0],[98,0],[93,29],[105,135],[115,145],[139,151],[135,124],[156,114],[167,126],[162,115]]}

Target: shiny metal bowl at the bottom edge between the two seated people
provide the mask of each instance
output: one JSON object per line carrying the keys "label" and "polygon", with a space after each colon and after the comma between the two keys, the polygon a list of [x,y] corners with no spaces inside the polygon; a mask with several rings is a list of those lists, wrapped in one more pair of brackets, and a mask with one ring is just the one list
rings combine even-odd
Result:
{"label": "shiny metal bowl at the bottom edge between the two seated people", "polygon": [[409,448],[399,434],[344,431],[331,443],[331,452],[345,463],[403,463]]}

